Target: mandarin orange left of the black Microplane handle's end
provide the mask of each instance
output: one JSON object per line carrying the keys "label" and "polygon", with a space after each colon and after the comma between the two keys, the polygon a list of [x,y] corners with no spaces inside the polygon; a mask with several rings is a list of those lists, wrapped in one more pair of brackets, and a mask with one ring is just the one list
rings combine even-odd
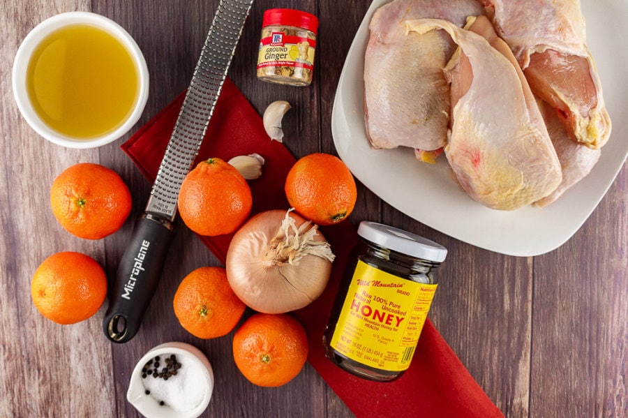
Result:
{"label": "mandarin orange left of the black Microplane handle's end", "polygon": [[74,324],[94,315],[105,301],[107,277],[89,255],[64,251],[47,257],[31,281],[38,311],[59,324]]}

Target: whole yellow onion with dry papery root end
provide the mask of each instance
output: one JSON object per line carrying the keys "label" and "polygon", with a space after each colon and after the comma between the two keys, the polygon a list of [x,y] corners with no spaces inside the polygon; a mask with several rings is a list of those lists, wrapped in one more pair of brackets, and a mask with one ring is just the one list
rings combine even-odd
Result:
{"label": "whole yellow onion with dry papery root end", "polygon": [[265,211],[234,235],[227,251],[227,279],[255,311],[285,313],[320,296],[333,260],[317,225],[292,209]]}

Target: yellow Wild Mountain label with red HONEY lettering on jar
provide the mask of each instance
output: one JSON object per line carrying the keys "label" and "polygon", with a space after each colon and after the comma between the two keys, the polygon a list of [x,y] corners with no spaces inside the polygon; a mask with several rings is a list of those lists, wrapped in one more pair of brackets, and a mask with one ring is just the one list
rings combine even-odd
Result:
{"label": "yellow Wild Mountain label with red HONEY lettering on jar", "polygon": [[385,371],[405,371],[437,285],[415,283],[359,261],[330,345]]}

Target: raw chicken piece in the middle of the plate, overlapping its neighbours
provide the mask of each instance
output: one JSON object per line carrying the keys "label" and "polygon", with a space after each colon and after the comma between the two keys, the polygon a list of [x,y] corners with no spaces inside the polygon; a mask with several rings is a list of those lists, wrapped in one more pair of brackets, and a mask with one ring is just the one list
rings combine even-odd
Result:
{"label": "raw chicken piece in the middle of the plate, overlapping its neighbours", "polygon": [[517,209],[554,191],[560,163],[508,46],[485,16],[470,22],[470,30],[444,20],[407,24],[418,33],[444,29],[459,46],[445,70],[453,110],[444,149],[458,182],[487,207]]}

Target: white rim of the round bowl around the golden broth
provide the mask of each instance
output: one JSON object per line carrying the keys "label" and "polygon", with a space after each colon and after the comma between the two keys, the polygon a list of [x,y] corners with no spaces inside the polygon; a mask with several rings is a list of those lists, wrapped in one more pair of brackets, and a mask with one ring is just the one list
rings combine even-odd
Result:
{"label": "white rim of the round bowl around the golden broth", "polygon": [[[138,98],[135,100],[135,106],[133,111],[130,112],[129,117],[116,130],[106,133],[105,135],[89,139],[78,139],[62,135],[47,126],[47,124],[40,119],[38,114],[33,109],[33,105],[31,104],[27,91],[27,69],[33,51],[50,33],[70,24],[89,24],[110,33],[130,52],[135,63],[135,68],[137,68],[139,72],[140,89],[138,92]],[[13,96],[15,96],[17,107],[20,109],[20,112],[22,112],[22,116],[26,119],[31,128],[36,130],[39,135],[45,137],[45,139],[50,142],[62,145],[63,147],[94,148],[117,140],[119,137],[127,133],[128,130],[135,125],[137,120],[140,119],[148,98],[148,90],[149,73],[146,61],[144,60],[144,55],[142,55],[142,51],[140,51],[140,47],[137,46],[135,40],[133,40],[128,32],[125,31],[119,24],[96,13],[68,12],[61,13],[44,20],[32,31],[30,31],[26,38],[24,38],[22,45],[20,45],[17,50],[17,54],[15,54],[15,61],[13,62]]]}

